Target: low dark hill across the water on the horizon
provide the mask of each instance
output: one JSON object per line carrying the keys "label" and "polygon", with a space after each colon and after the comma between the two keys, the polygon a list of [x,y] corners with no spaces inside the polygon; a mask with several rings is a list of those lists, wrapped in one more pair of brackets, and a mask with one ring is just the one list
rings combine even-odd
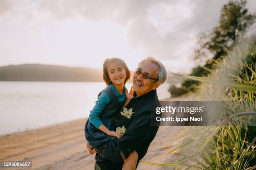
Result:
{"label": "low dark hill across the water on the horizon", "polygon": [[0,67],[0,81],[102,82],[102,70],[87,67],[22,64]]}

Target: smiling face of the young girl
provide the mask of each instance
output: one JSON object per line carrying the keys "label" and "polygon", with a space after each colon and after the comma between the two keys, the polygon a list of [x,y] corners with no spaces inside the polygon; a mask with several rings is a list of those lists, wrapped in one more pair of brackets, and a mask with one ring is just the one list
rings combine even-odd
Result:
{"label": "smiling face of the young girl", "polygon": [[123,65],[119,62],[113,62],[108,64],[108,77],[113,85],[124,85],[126,73]]}

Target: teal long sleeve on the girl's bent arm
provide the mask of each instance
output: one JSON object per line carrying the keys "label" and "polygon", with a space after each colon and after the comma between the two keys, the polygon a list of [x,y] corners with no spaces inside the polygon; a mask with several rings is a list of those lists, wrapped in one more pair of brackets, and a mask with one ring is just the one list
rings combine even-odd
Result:
{"label": "teal long sleeve on the girl's bent arm", "polygon": [[100,125],[102,125],[102,121],[100,120],[100,114],[103,112],[105,107],[109,104],[110,97],[106,92],[102,92],[98,98],[98,100],[95,102],[95,106],[91,110],[91,113],[89,115],[89,121],[92,123],[92,125],[95,126],[95,128],[99,128]]}

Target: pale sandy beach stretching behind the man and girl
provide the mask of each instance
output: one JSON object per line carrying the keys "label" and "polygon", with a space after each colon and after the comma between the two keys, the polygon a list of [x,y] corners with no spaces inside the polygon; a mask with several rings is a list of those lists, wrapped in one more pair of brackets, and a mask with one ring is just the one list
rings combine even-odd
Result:
{"label": "pale sandy beach stretching behind the man and girl", "polygon": [[[171,100],[177,100],[173,98]],[[184,98],[179,98],[179,100]],[[73,120],[36,130],[27,130],[0,136],[0,161],[32,161],[36,170],[92,170],[94,155],[86,149],[84,123]],[[161,126],[142,161],[154,163],[176,162],[179,153],[164,155],[181,141],[173,141],[182,134],[183,126]],[[161,156],[162,155],[162,156]],[[140,163],[138,170],[172,169]],[[15,169],[17,168],[7,168]],[[24,169],[24,168],[23,168]]]}

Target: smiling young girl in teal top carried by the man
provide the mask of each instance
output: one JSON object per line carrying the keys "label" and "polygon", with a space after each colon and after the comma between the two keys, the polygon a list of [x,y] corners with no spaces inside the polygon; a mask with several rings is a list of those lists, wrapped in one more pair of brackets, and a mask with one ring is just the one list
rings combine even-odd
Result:
{"label": "smiling young girl in teal top carried by the man", "polygon": [[[122,107],[128,104],[131,93],[127,93],[125,82],[130,78],[130,71],[125,62],[119,58],[108,58],[103,63],[103,80],[108,85],[98,94],[96,105],[91,110],[89,121],[85,124],[85,137],[91,147],[106,143],[120,135],[115,132],[115,124]],[[128,100],[126,100],[126,95]],[[126,101],[126,102],[125,102]],[[135,169],[138,155],[131,153],[124,161],[124,169]]]}

